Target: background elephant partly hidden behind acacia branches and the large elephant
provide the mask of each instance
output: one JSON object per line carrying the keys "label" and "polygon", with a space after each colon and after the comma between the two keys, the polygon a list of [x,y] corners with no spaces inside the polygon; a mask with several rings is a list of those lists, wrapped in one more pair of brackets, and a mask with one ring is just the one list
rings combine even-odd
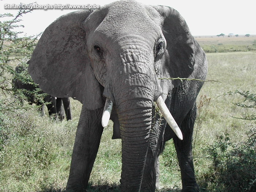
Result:
{"label": "background elephant partly hidden behind acacia branches and the large elephant", "polygon": [[[30,61],[27,61],[27,64],[29,64],[29,62]],[[20,64],[17,65],[15,68],[15,72],[18,74],[26,70],[27,68]],[[14,89],[25,89],[29,91],[35,91],[38,88],[34,84],[23,83],[21,80],[17,78],[12,79],[12,87]],[[40,94],[43,94],[43,93],[44,93],[43,91],[40,92]],[[39,101],[38,99],[35,99],[33,94],[25,92],[25,96],[30,105],[35,103],[37,106],[39,106],[38,110],[41,112],[42,116],[45,115],[45,106],[46,106],[48,109],[49,116],[53,115],[54,118],[57,118],[60,121],[62,121],[65,117],[67,120],[72,120],[70,98],[55,98],[55,97],[52,97],[51,95],[46,95],[44,97],[44,102],[43,102],[43,101]]]}

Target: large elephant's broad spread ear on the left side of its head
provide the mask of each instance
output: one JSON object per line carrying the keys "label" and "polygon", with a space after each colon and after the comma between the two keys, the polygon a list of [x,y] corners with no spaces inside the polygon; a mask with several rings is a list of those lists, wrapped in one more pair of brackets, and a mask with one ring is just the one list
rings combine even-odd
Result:
{"label": "large elephant's broad spread ear on the left side of its head", "polygon": [[29,74],[54,97],[73,97],[86,108],[103,106],[101,85],[86,53],[86,31],[81,27],[92,11],[61,16],[49,25],[32,54]]}

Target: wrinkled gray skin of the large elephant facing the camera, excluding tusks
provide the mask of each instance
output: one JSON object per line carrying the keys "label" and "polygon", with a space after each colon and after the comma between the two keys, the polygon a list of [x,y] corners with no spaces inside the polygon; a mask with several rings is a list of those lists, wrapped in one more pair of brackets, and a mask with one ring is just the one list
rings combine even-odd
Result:
{"label": "wrinkled gray skin of the large elephant facing the camera, excluding tusks", "polygon": [[[56,71],[61,73],[56,76]],[[86,190],[103,131],[106,98],[114,102],[113,138],[122,140],[121,190],[155,191],[158,156],[171,138],[183,191],[198,190],[191,141],[195,101],[203,83],[158,79],[206,78],[205,53],[176,10],[118,1],[95,11],[64,15],[45,30],[29,72],[46,93],[76,97],[83,103],[67,191]],[[160,125],[158,114],[155,117],[154,101],[160,95],[183,140],[165,120]]]}

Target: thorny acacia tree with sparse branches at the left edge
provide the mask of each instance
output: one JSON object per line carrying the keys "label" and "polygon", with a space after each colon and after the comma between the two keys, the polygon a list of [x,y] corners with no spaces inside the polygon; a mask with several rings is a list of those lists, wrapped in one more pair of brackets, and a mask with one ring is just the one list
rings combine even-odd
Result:
{"label": "thorny acacia tree with sparse branches at the left edge", "polygon": [[[16,93],[19,94],[19,97],[24,97],[22,91],[12,88],[12,78],[34,84],[27,71],[21,74],[15,72],[15,64],[26,65],[39,35],[26,36],[23,32],[17,31],[20,27],[24,27],[19,24],[22,20],[21,17],[31,11],[33,9],[20,8],[16,16],[10,13],[0,14],[0,18],[6,19],[0,21],[0,116],[4,112],[10,112],[19,107],[17,103],[19,100],[13,99],[13,96],[10,95]],[[36,90],[37,93],[40,93],[39,91],[39,89]],[[35,95],[41,100],[42,95],[37,93]]]}

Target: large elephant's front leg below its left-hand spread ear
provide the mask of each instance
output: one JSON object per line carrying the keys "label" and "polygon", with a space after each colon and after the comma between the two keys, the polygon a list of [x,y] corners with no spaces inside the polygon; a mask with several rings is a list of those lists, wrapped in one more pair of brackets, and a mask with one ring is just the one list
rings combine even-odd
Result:
{"label": "large elephant's front leg below its left-hand spread ear", "polygon": [[82,108],[76,131],[67,192],[86,191],[103,131],[102,112],[103,108],[96,110]]}

